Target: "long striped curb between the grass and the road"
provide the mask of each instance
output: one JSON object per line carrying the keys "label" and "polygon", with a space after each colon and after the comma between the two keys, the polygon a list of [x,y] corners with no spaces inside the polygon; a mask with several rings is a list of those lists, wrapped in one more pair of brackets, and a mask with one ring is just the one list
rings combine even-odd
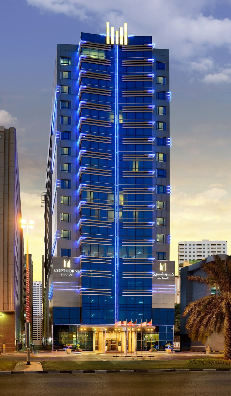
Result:
{"label": "long striped curb between the grass and the road", "polygon": [[231,371],[231,369],[162,369],[162,370],[60,370],[60,371],[0,371],[1,374],[106,374],[106,373],[161,373],[179,371]]}

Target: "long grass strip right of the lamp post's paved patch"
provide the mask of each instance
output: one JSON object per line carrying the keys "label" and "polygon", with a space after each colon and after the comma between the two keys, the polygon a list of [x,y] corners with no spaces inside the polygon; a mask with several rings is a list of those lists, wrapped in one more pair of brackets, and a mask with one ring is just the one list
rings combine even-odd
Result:
{"label": "long grass strip right of the lamp post's paved patch", "polygon": [[206,368],[231,368],[231,365],[217,364],[211,367],[211,364],[192,364],[189,360],[173,360],[168,362],[162,362],[160,360],[154,361],[107,361],[107,362],[96,362],[96,361],[42,361],[43,370],[48,371],[60,371],[60,370],[161,370],[161,369],[206,369]]}

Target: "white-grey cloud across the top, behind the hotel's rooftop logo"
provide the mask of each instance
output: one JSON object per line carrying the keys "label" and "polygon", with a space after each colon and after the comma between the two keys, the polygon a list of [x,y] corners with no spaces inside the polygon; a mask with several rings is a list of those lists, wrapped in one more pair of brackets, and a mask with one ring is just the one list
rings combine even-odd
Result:
{"label": "white-grey cloud across the top, behind the hotel's rooftop logo", "polygon": [[171,55],[177,59],[198,56],[209,48],[231,46],[231,20],[202,14],[203,8],[211,5],[209,0],[146,0],[142,7],[140,0],[117,0],[116,3],[106,0],[27,0],[27,4],[42,11],[63,13],[94,23],[95,32],[105,30],[107,20],[117,27],[127,21],[129,32],[152,34],[158,48],[164,48],[163,45],[170,48]]}

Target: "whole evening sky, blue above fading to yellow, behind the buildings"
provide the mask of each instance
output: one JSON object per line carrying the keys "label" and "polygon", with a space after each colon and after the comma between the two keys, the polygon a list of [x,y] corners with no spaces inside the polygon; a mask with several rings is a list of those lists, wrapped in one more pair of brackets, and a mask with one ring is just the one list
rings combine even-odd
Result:
{"label": "whole evening sky, blue above fading to yellow, behind the buildings", "polygon": [[1,0],[0,125],[17,129],[34,280],[42,278],[56,44],[105,33],[107,21],[170,50],[170,259],[187,240],[227,240],[231,254],[231,0]]}

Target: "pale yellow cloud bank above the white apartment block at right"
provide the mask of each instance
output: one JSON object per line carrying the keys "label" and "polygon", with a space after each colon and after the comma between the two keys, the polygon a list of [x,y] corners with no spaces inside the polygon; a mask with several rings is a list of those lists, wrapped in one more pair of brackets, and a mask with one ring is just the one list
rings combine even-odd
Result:
{"label": "pale yellow cloud bank above the white apartment block at right", "polygon": [[[177,263],[179,241],[230,240],[231,197],[223,188],[198,194],[173,193],[170,259]],[[229,246],[228,246],[229,247]]]}

